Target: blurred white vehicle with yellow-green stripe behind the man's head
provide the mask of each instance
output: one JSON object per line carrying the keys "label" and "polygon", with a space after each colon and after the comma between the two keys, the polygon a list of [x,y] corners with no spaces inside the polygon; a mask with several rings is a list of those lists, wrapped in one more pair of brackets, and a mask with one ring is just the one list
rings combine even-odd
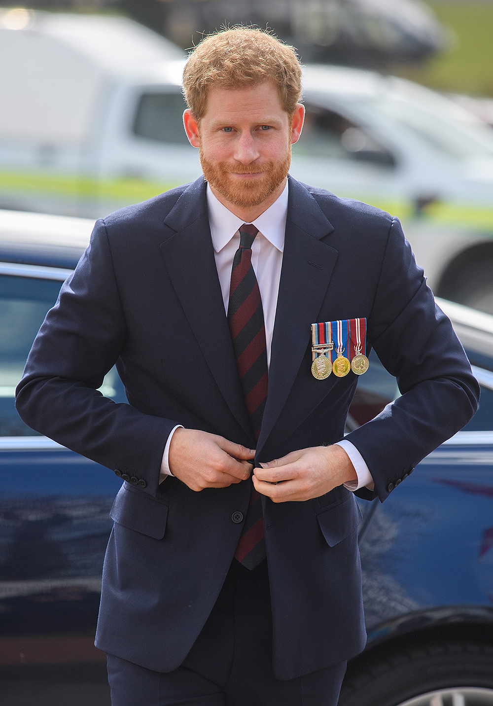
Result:
{"label": "blurred white vehicle with yellow-green stripe behind the man's head", "polygon": [[[105,215],[198,177],[183,63],[125,18],[1,11],[0,207]],[[293,176],[403,217],[434,292],[493,313],[493,128],[351,68],[306,66],[304,97]]]}

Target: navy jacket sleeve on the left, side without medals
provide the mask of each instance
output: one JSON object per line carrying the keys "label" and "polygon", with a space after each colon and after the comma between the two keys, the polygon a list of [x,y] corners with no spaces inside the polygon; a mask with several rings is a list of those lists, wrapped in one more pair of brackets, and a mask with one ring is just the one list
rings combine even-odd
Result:
{"label": "navy jacket sleeve on the left, side without medals", "polygon": [[99,220],[90,246],[35,338],[16,407],[32,429],[103,466],[145,480],[145,492],[154,495],[176,422],[97,392],[126,336],[105,224]]}

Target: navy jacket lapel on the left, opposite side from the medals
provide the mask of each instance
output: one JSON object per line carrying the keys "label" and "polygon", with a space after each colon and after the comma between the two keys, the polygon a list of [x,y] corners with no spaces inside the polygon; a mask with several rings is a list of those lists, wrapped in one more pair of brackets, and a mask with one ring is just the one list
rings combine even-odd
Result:
{"label": "navy jacket lapel on the left, opposite side from the medals", "polygon": [[182,193],[165,225],[174,233],[160,247],[177,297],[222,396],[251,437],[215,265],[203,178]]}

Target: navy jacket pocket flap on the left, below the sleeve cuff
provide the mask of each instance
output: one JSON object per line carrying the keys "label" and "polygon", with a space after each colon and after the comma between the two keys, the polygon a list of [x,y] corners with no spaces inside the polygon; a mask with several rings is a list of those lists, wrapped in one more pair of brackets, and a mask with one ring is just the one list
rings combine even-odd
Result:
{"label": "navy jacket pocket flap on the left, below the sleeve cuff", "polygon": [[147,493],[122,486],[114,498],[109,517],[127,530],[162,539],[165,536],[167,514],[166,503],[155,500]]}

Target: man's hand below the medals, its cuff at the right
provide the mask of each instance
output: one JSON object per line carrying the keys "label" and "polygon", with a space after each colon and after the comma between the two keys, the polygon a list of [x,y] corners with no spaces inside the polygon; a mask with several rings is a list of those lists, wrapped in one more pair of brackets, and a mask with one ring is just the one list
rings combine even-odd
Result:
{"label": "man's hand below the medals, its cuff at the right", "polygon": [[350,457],[338,445],[292,451],[261,466],[254,469],[254,486],[273,503],[319,498],[336,486],[357,479]]}

